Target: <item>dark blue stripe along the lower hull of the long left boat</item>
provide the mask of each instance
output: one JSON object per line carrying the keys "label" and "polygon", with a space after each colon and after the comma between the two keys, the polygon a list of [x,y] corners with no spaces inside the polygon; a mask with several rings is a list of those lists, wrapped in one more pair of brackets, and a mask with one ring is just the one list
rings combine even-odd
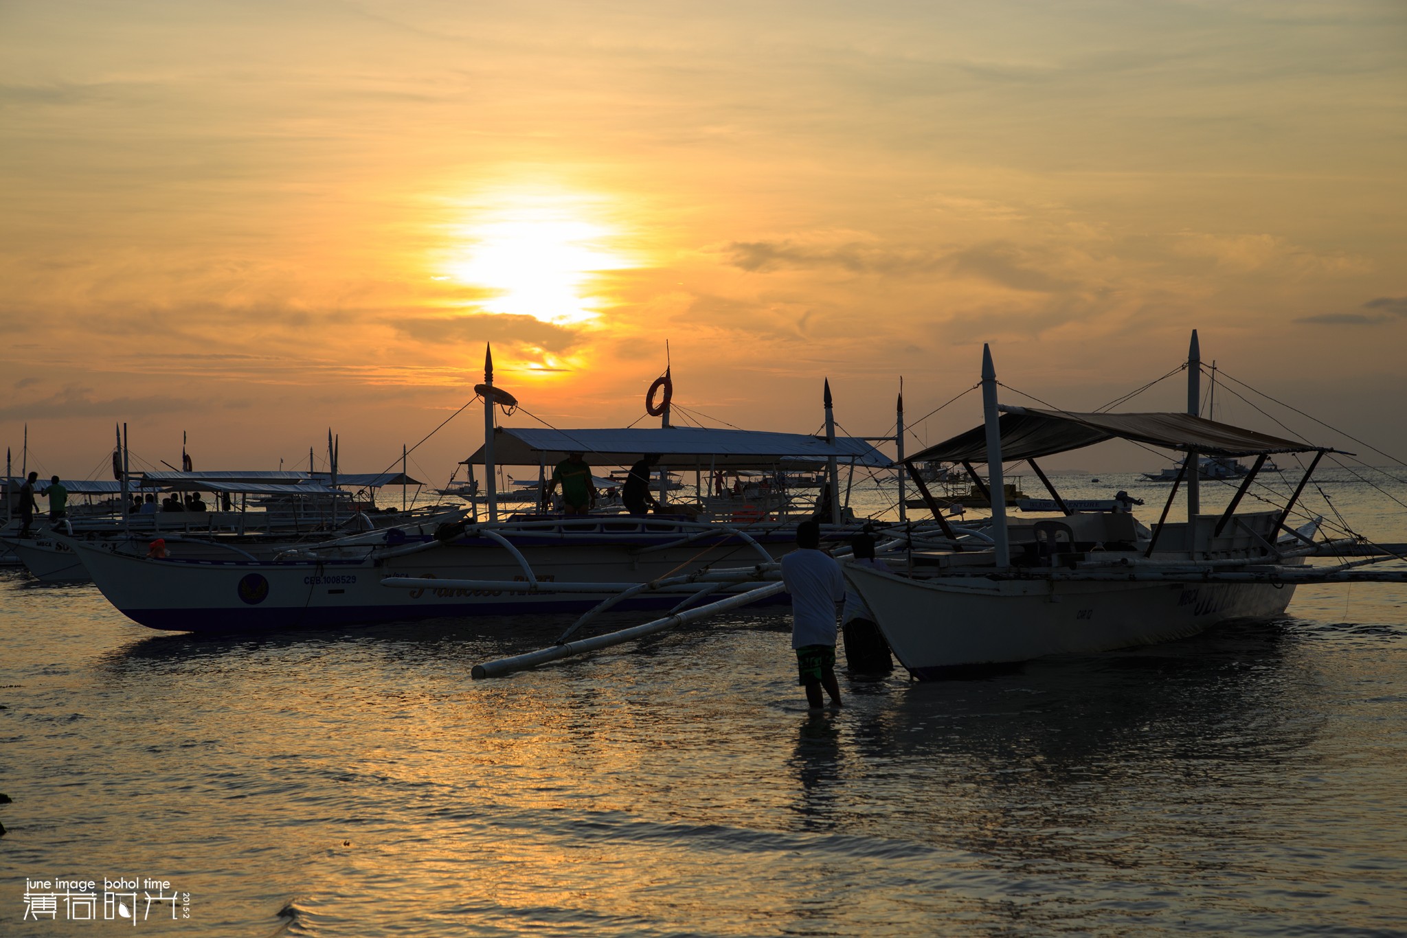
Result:
{"label": "dark blue stripe along the lower hull of the long left boat", "polygon": [[[236,631],[294,631],[303,629],[335,629],[339,626],[364,626],[380,622],[408,619],[473,619],[478,616],[518,616],[540,613],[582,613],[599,605],[601,599],[557,599],[519,602],[476,602],[461,605],[405,605],[405,606],[356,606],[356,608],[270,608],[270,609],[124,609],[122,615],[149,629],[163,631],[193,631],[229,634]],[[640,598],[622,602],[612,612],[654,612],[668,610],[682,602],[684,596]],[[787,603],[791,598],[782,595],[763,599],[754,605]]]}

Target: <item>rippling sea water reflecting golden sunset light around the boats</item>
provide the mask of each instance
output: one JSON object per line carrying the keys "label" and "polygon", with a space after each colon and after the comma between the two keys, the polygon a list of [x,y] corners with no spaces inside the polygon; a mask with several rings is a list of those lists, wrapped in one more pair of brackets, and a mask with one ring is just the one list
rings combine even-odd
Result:
{"label": "rippling sea water reflecting golden sunset light around the boats", "polygon": [[785,613],[474,682],[563,623],[196,640],[0,574],[0,934],[134,927],[23,921],[59,878],[170,935],[1407,934],[1407,586],[1290,613],[812,716]]}

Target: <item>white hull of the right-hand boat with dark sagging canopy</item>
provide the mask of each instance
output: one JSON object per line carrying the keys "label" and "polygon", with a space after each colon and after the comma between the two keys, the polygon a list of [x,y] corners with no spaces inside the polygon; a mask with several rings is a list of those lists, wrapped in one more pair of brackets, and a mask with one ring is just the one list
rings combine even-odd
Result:
{"label": "white hull of the right-hand boat with dark sagging canopy", "polygon": [[895,657],[920,679],[1175,641],[1227,619],[1285,612],[1293,585],[1071,582],[951,577],[910,579],[846,567]]}

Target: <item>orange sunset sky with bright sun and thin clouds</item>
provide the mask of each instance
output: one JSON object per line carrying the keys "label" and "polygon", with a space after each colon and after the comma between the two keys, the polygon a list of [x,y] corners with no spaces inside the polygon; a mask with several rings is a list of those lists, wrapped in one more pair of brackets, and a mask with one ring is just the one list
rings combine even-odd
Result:
{"label": "orange sunset sky with bright sun and thin clouds", "polygon": [[668,340],[688,408],[812,432],[829,377],[881,435],[982,342],[1078,409],[1192,328],[1407,450],[1400,0],[7,0],[0,48],[17,470],[28,422],[31,468],[104,475],[114,420],[146,464],[183,430],[197,468],[305,464],[331,426],[380,470],[485,342],[556,426],[640,416]]}

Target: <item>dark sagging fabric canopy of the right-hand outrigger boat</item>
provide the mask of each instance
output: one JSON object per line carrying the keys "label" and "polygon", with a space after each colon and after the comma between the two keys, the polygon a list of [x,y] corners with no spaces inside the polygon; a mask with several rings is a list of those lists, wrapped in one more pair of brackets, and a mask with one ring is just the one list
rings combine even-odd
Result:
{"label": "dark sagging fabric canopy of the right-hand outrigger boat", "polygon": [[[1069,413],[1003,406],[1002,458],[1030,460],[1067,453],[1104,440],[1133,440],[1171,450],[1196,450],[1206,456],[1259,456],[1262,453],[1331,453],[1328,447],[1268,436],[1190,413]],[[986,463],[986,428],[975,426],[926,450],[906,463]]]}

